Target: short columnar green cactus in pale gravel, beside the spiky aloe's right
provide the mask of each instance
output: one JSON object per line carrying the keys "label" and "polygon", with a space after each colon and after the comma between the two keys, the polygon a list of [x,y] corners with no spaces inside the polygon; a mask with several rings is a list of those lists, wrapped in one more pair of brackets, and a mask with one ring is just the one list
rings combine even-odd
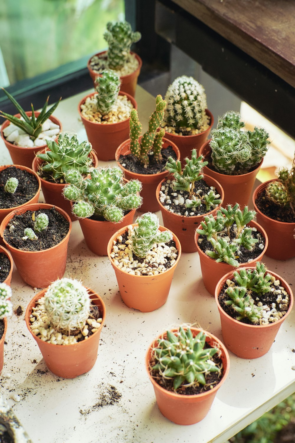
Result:
{"label": "short columnar green cactus in pale gravel, beside the spiky aloe's right", "polygon": [[96,78],[97,110],[107,115],[115,104],[120,90],[120,77],[115,71],[107,70]]}

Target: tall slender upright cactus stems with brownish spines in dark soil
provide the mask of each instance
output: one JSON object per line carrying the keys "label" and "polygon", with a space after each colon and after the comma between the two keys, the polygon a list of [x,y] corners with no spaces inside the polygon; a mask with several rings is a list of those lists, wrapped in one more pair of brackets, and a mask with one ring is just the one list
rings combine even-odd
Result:
{"label": "tall slender upright cactus stems with brownish spines in dark soil", "polygon": [[161,95],[156,97],[156,109],[149,117],[149,129],[142,136],[142,140],[139,141],[139,137],[142,131],[142,124],[138,120],[138,113],[135,109],[132,109],[130,115],[130,151],[138,161],[147,167],[149,164],[148,154],[153,151],[154,158],[157,161],[162,159],[161,148],[162,138],[165,135],[165,130],[159,128],[161,121],[164,117],[166,102]]}

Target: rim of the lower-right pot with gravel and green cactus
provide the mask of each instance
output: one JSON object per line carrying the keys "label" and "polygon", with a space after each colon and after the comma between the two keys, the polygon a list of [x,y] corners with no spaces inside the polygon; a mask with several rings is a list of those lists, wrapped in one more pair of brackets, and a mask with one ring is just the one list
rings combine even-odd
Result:
{"label": "rim of the lower-right pot with gravel and green cactus", "polygon": [[258,330],[259,328],[260,328],[260,329],[261,329],[261,328],[263,328],[263,329],[265,329],[265,328],[270,328],[270,327],[272,327],[272,326],[274,326],[274,325],[278,325],[278,324],[283,323],[284,320],[287,318],[287,315],[290,314],[291,309],[292,309],[292,307],[293,307],[293,303],[294,303],[293,292],[292,292],[292,290],[291,290],[289,284],[286,282],[286,280],[284,280],[283,277],[281,277],[279,274],[276,274],[276,272],[269,271],[269,270],[267,269],[267,272],[269,272],[272,276],[277,277],[277,278],[280,280],[280,282],[281,282],[281,286],[284,286],[284,288],[286,289],[286,291],[289,291],[289,295],[290,295],[291,300],[290,300],[290,304],[289,304],[289,307],[288,307],[288,310],[287,310],[286,314],[285,314],[280,320],[277,320],[276,322],[268,323],[268,325],[254,325],[254,324],[250,325],[250,324],[248,324],[248,323],[242,323],[242,322],[240,322],[239,320],[236,320],[236,319],[234,319],[233,317],[231,317],[230,315],[228,315],[228,314],[222,309],[222,307],[221,307],[221,305],[220,305],[220,303],[219,303],[219,301],[218,301],[218,295],[220,294],[220,291],[218,290],[218,287],[219,287],[219,286],[222,286],[222,284],[223,284],[228,278],[232,278],[232,277],[234,276],[234,272],[239,271],[240,269],[255,269],[255,268],[256,268],[255,266],[245,266],[244,268],[236,268],[234,271],[227,272],[224,276],[222,276],[221,279],[220,279],[220,280],[218,281],[218,283],[216,284],[216,288],[215,288],[215,301],[216,301],[216,303],[217,303],[218,310],[219,310],[219,311],[221,310],[221,311],[222,311],[222,314],[223,314],[227,319],[229,319],[230,321],[233,321],[235,324],[242,325],[243,327],[245,327],[245,328],[247,328],[247,329],[255,328],[255,329]]}

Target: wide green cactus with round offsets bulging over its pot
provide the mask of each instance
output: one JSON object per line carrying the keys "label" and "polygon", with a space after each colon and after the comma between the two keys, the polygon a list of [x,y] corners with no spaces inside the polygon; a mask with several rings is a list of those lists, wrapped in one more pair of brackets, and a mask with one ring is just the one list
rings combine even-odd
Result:
{"label": "wide green cactus with round offsets bulging over its pot", "polygon": [[77,171],[68,171],[65,180],[70,183],[63,190],[64,197],[72,200],[73,214],[78,218],[96,214],[108,221],[118,223],[124,211],[137,209],[142,198],[139,192],[142,183],[138,180],[123,182],[123,171],[119,167],[96,168],[84,179]]}

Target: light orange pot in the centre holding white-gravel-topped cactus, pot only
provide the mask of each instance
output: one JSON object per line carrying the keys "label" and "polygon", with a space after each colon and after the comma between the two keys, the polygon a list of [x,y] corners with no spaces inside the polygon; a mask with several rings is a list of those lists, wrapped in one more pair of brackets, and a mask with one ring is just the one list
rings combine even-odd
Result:
{"label": "light orange pot in the centre holding white-gravel-topped cactus, pot only", "polygon": [[[137,226],[134,223],[132,226]],[[108,242],[107,245],[107,255],[111,260],[111,265],[115,270],[115,275],[117,278],[119,291],[123,302],[128,307],[134,309],[139,309],[142,312],[155,311],[161,307],[168,298],[170,286],[172,283],[172,277],[176,269],[176,265],[180,259],[181,246],[180,241],[173,233],[173,240],[176,243],[176,249],[178,250],[178,257],[176,262],[167,269],[167,271],[162,272],[156,276],[135,276],[130,275],[128,272],[122,271],[118,266],[116,266],[111,258],[111,248],[113,245],[113,240],[116,240],[119,235],[122,235],[127,230],[127,226],[119,229]],[[167,230],[164,226],[159,227],[160,231]]]}

